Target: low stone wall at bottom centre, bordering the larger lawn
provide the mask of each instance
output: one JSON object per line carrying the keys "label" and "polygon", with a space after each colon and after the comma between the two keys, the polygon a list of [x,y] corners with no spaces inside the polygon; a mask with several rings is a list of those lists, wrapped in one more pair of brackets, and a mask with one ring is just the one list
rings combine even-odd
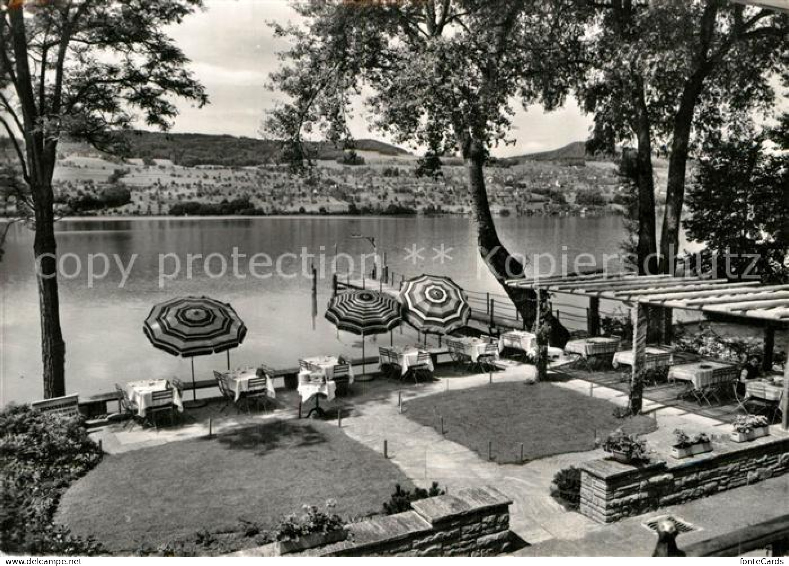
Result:
{"label": "low stone wall at bottom centre, bordering the larger lawn", "polygon": [[[492,487],[461,489],[416,501],[412,511],[351,523],[345,541],[310,549],[303,556],[498,556],[510,548],[510,504]],[[268,545],[231,556],[273,554],[273,545]]]}

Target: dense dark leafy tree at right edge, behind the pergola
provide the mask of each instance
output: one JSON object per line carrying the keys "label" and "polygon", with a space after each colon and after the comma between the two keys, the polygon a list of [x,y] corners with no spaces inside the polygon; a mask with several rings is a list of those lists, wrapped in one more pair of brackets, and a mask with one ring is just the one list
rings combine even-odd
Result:
{"label": "dense dark leafy tree at right edge, behind the pergola", "polygon": [[747,130],[705,149],[688,193],[688,235],[716,257],[718,276],[789,282],[789,154],[766,152],[764,134]]}

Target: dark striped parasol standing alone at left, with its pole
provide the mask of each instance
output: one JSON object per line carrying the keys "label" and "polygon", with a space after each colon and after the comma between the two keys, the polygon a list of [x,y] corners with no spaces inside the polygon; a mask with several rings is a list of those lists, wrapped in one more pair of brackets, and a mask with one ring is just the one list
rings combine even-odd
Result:
{"label": "dark striped parasol standing alone at left, with its pole", "polygon": [[[224,302],[208,297],[181,297],[155,305],[145,319],[143,332],[155,348],[194,358],[237,347],[244,341],[246,326],[233,307]],[[196,397],[194,378],[193,362],[192,394]]]}

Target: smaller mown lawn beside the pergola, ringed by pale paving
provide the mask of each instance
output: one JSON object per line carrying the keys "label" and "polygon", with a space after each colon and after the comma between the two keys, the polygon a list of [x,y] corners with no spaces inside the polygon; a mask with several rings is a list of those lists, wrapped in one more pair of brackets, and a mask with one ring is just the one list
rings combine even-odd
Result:
{"label": "smaller mown lawn beside the pergola, ringed by pale paving", "polygon": [[643,434],[655,429],[651,418],[619,420],[615,405],[559,386],[540,383],[493,384],[427,395],[406,404],[406,416],[439,430],[445,437],[488,458],[492,441],[497,463],[518,463],[523,444],[525,460],[584,452],[595,448],[595,434],[604,438],[622,428]]}

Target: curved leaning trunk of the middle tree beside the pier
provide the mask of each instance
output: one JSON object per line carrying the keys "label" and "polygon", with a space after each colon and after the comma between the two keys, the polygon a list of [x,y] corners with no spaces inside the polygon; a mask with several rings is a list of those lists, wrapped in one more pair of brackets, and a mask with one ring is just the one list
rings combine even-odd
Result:
{"label": "curved leaning trunk of the middle tree beside the pier", "polygon": [[469,175],[469,189],[474,203],[474,219],[477,222],[477,246],[481,256],[495,279],[510,297],[518,313],[521,314],[526,328],[532,328],[537,314],[537,294],[531,289],[507,287],[507,279],[518,279],[524,276],[524,266],[502,246],[496,232],[493,216],[488,204],[488,193],[485,189],[483,144],[475,140],[466,140],[463,144],[463,160]]}

